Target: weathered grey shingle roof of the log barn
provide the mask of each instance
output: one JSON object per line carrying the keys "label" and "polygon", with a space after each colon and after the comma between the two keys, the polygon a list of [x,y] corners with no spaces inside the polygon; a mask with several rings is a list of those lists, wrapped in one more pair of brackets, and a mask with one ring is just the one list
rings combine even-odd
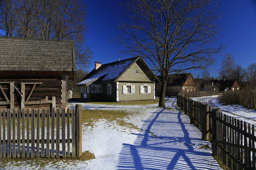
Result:
{"label": "weathered grey shingle roof of the log barn", "polygon": [[0,37],[0,71],[76,71],[74,42]]}

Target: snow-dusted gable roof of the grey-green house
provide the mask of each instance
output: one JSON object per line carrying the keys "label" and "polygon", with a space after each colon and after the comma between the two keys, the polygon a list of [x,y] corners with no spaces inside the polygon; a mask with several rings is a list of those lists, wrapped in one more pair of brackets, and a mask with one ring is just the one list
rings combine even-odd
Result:
{"label": "snow-dusted gable roof of the grey-green house", "polygon": [[[144,62],[144,60],[140,57],[133,57],[133,58],[124,59],[121,61],[116,61],[113,63],[102,64],[97,70],[93,69],[89,74],[87,74],[84,77],[84,79],[82,79],[76,85],[85,85],[85,84],[88,85],[99,78],[101,82],[115,81],[118,79],[118,77],[120,77],[126,71],[126,69],[128,69],[131,66],[131,64],[135,63],[139,59],[141,59],[142,63],[146,67],[148,67],[147,64]],[[148,69],[150,70],[149,67]],[[152,72],[152,76],[155,76],[153,72]]]}

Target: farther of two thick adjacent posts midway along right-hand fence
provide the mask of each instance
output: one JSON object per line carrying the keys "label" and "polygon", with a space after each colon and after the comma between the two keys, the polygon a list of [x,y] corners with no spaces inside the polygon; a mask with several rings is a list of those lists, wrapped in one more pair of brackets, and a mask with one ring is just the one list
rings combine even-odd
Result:
{"label": "farther of two thick adjacent posts midway along right-hand fence", "polygon": [[202,139],[209,140],[209,105],[203,105]]}

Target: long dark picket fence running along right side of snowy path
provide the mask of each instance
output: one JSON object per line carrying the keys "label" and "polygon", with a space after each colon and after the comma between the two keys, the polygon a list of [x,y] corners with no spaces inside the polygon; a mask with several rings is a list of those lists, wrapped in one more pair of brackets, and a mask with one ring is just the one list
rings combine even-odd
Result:
{"label": "long dark picket fence running along right side of snowy path", "polygon": [[178,95],[177,105],[212,143],[212,151],[232,170],[256,170],[256,131],[254,125],[220,112],[207,104]]}

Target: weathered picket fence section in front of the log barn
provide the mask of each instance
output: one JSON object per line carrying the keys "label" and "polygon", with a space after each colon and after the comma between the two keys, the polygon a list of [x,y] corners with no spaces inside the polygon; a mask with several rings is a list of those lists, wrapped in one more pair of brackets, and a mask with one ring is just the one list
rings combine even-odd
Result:
{"label": "weathered picket fence section in front of the log barn", "polygon": [[79,157],[81,109],[0,110],[0,158]]}

